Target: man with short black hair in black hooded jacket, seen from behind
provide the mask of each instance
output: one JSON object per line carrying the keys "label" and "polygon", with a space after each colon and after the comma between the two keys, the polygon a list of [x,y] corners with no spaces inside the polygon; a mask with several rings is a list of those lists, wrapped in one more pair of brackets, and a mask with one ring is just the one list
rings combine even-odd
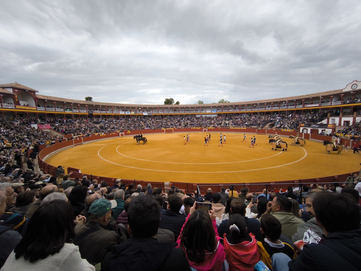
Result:
{"label": "man with short black hair in black hooded jacket, seen from behind", "polygon": [[[174,196],[177,197],[177,196]],[[129,204],[128,232],[131,238],[113,247],[101,262],[101,270],[189,271],[180,248],[156,239],[160,205],[153,197],[136,197]]]}

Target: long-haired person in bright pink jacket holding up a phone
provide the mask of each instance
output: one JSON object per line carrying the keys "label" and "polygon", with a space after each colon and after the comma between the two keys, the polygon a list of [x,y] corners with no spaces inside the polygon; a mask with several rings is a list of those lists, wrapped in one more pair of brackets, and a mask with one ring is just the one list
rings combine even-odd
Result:
{"label": "long-haired person in bright pink jacket holding up a phone", "polygon": [[191,267],[199,271],[222,270],[225,251],[218,235],[216,213],[195,209],[196,202],[183,224],[178,236],[178,247],[186,253]]}

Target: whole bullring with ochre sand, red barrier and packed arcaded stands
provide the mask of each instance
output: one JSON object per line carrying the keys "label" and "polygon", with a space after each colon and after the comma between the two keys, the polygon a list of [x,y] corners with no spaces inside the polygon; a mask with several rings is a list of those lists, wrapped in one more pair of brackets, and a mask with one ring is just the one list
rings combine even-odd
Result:
{"label": "whole bullring with ochre sand, red barrier and packed arcaded stands", "polygon": [[[340,145],[360,143],[358,86],[361,82],[353,81],[344,89],[309,95],[163,106],[43,96],[10,83],[0,85],[0,112],[4,121],[27,121],[51,134],[39,146],[38,164],[52,175],[62,165],[71,178],[90,175],[110,184],[122,178],[152,186],[170,182],[186,184],[187,190],[188,184],[192,190],[197,184],[331,183],[359,171],[358,153],[328,154],[322,144],[331,135]],[[287,150],[272,150],[269,136],[276,132]],[[148,139],[144,145],[136,144],[139,133]],[[226,143],[218,146],[221,133]],[[305,145],[291,145],[289,136],[297,133]],[[191,142],[184,145],[187,134]],[[208,134],[211,141],[204,146]],[[257,145],[250,148],[253,136]]]}

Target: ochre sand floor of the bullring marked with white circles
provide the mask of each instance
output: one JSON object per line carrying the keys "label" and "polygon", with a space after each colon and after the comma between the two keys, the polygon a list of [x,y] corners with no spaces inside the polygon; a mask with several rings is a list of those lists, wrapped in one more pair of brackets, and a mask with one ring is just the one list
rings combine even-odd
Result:
{"label": "ochre sand floor of the bullring marked with white circles", "polygon": [[[242,142],[243,134],[223,133],[226,143],[218,146],[220,133],[211,133],[209,146],[204,146],[206,135],[190,133],[186,145],[186,133],[144,135],[144,145],[136,145],[133,136],[106,139],[57,152],[46,162],[106,177],[219,184],[335,176],[357,171],[361,158],[352,151],[327,154],[322,143],[309,140],[305,146],[291,146],[287,137],[287,151],[275,151],[267,136],[255,134]],[[253,136],[257,145],[250,148]]]}

